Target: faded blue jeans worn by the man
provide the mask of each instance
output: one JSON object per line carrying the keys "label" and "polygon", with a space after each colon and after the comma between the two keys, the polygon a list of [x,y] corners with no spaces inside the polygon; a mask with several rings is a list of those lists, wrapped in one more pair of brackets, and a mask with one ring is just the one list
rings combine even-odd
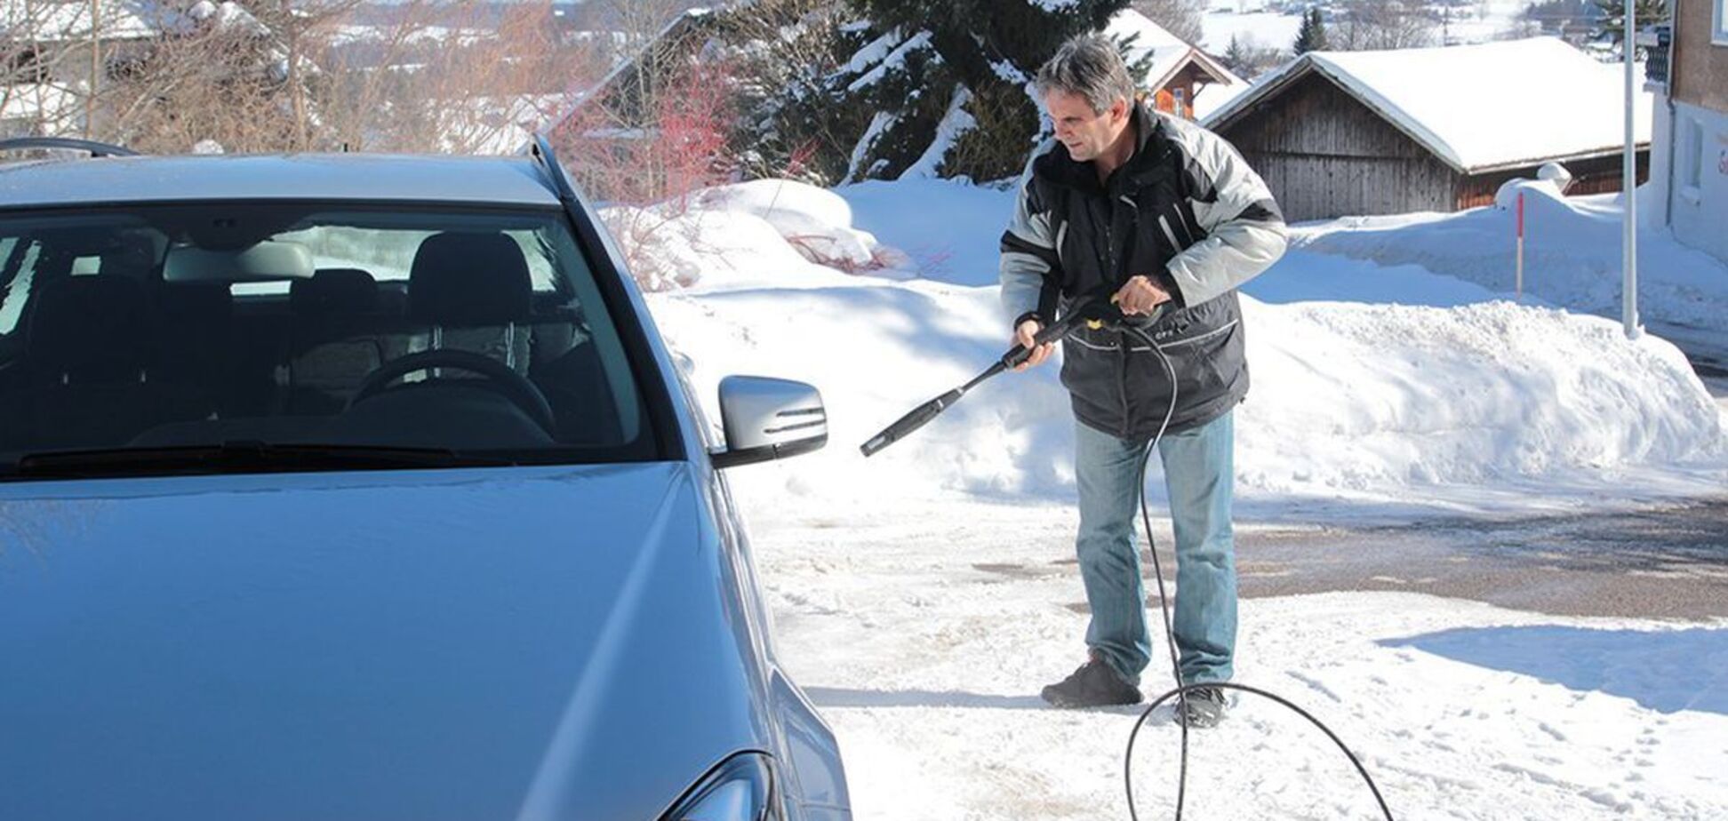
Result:
{"label": "faded blue jeans worn by the man", "polygon": [[[1146,442],[1116,439],[1077,423],[1080,486],[1080,577],[1092,608],[1085,643],[1127,681],[1139,684],[1151,660],[1146,589],[1135,539],[1140,494],[1135,474]],[[1196,429],[1165,434],[1170,520],[1177,536],[1173,631],[1182,683],[1229,681],[1236,653],[1236,538],[1230,529],[1236,422],[1225,411]],[[1156,605],[1153,605],[1156,607]]]}

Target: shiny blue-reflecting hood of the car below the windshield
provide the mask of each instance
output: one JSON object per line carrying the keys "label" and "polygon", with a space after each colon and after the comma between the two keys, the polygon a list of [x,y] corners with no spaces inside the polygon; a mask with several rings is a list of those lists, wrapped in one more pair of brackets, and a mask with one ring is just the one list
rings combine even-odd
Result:
{"label": "shiny blue-reflecting hood of the car below the windshield", "polygon": [[688,465],[0,486],[0,818],[653,819],[766,747]]}

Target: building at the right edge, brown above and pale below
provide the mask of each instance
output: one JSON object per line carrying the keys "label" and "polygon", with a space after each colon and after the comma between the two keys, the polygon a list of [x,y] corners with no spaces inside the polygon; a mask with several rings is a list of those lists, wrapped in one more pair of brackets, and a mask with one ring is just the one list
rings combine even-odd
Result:
{"label": "building at the right edge, brown above and pale below", "polygon": [[1647,62],[1657,92],[1650,218],[1728,263],[1728,0],[1674,0],[1661,38]]}

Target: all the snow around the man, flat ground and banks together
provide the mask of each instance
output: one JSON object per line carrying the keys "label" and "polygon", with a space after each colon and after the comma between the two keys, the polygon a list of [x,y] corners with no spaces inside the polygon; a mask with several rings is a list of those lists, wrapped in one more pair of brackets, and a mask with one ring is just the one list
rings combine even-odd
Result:
{"label": "all the snow around the man, flat ground and banks together", "polygon": [[[651,228],[636,252],[664,289],[650,304],[710,415],[727,373],[802,379],[826,398],[824,451],[731,481],[779,653],[836,728],[861,819],[1127,818],[1134,714],[1037,700],[1082,660],[1085,627],[1056,368],[999,377],[885,453],[857,453],[1006,349],[994,283],[1011,197],[937,180],[838,195],[771,181],[676,216],[607,214],[615,230]],[[1728,417],[1674,346],[1517,304],[1507,283],[1467,273],[1465,251],[1439,252],[1462,245],[1448,232],[1490,220],[1408,218],[1408,239],[1379,252],[1351,244],[1372,232],[1306,226],[1246,289],[1244,527],[1296,508],[1586,510],[1728,482]],[[1405,245],[1436,251],[1388,256]],[[1690,304],[1673,294],[1649,309]],[[1161,690],[1159,669],[1146,690]],[[1728,818],[1725,669],[1728,624],[1389,593],[1242,607],[1239,681],[1313,709],[1400,818]],[[1173,731],[1153,722],[1135,792],[1142,818],[1168,818]],[[1192,778],[1189,818],[1372,811],[1322,736],[1251,700],[1198,740]]]}

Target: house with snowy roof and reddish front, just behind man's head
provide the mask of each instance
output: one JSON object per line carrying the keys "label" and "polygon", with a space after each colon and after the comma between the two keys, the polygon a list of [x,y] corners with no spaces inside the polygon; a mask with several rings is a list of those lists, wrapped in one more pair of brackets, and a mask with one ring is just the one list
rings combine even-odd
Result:
{"label": "house with snowy roof and reddish front, just behind man's head", "polygon": [[1248,88],[1215,57],[1134,9],[1111,17],[1104,33],[1128,41],[1130,66],[1146,60],[1142,90],[1159,111],[1196,119]]}

